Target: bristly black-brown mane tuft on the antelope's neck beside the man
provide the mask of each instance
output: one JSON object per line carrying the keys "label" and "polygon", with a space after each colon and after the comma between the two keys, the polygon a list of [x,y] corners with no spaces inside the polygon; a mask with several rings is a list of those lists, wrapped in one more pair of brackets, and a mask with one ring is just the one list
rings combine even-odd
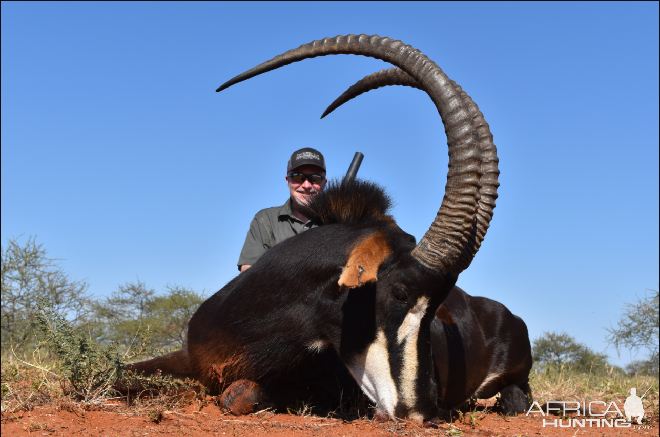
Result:
{"label": "bristly black-brown mane tuft on the antelope's neck beside the man", "polygon": [[332,179],[323,192],[310,200],[304,214],[319,225],[368,226],[377,221],[393,221],[389,216],[392,206],[392,198],[375,182],[355,179],[342,184],[341,180]]}

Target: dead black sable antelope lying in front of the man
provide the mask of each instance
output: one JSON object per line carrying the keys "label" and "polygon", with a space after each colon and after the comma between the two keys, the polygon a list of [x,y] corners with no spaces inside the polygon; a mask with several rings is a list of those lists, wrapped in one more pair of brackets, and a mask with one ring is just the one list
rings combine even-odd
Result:
{"label": "dead black sable antelope lying in front of the man", "polygon": [[[447,381],[447,372],[456,371],[455,345],[466,353],[466,365],[483,359],[470,351],[500,359],[493,337],[482,334],[477,348],[471,342],[482,318],[494,316],[497,325],[515,316],[459,289],[440,306],[486,234],[499,171],[492,134],[477,105],[435,63],[390,38],[337,36],[287,51],[216,91],[296,61],[341,53],[400,67],[436,105],[447,133],[449,173],[430,229],[415,244],[389,216],[391,202],[378,186],[360,180],[331,184],[306,213],[322,226],[271,248],[203,303],[181,351],[132,368],[196,378],[223,392],[222,400],[234,411],[251,411],[253,403],[277,406],[310,392],[325,390],[332,397],[336,393],[327,392],[327,380],[337,386],[337,376],[344,384],[345,365],[378,409],[416,420],[435,417],[438,398],[448,405],[443,399],[465,401],[475,390],[503,382],[522,386],[526,380],[506,380],[480,366],[485,374],[469,370],[461,393],[449,393],[455,385]],[[440,318],[437,308],[445,308]]]}

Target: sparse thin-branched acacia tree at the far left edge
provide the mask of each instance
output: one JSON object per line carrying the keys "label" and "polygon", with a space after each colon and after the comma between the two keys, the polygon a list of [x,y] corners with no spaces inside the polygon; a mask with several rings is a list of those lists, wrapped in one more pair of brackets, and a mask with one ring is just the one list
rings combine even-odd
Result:
{"label": "sparse thin-branched acacia tree at the far left edge", "polygon": [[35,312],[40,298],[48,299],[51,307],[68,313],[76,324],[84,312],[89,297],[87,283],[74,281],[63,270],[61,260],[48,258],[48,252],[28,237],[21,245],[20,237],[7,239],[0,249],[0,347],[3,353],[28,351],[36,346],[37,320]]}

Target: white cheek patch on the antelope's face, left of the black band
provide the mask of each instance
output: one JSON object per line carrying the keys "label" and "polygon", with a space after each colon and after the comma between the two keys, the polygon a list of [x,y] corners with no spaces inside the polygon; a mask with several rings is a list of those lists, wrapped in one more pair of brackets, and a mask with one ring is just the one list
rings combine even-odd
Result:
{"label": "white cheek patch on the antelope's face, left of the black band", "polygon": [[376,341],[357,355],[348,365],[348,370],[364,393],[376,402],[381,411],[394,415],[397,405],[397,386],[389,368],[389,353],[385,332],[379,330]]}

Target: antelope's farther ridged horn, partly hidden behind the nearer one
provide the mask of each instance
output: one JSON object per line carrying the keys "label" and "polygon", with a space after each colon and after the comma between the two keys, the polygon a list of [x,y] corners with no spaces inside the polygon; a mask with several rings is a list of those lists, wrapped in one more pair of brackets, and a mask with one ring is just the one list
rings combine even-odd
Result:
{"label": "antelope's farther ridged horn, partly hidden behind the nearer one", "polygon": [[[500,187],[500,183],[497,180],[498,175],[500,175],[500,170],[498,170],[497,167],[500,160],[497,157],[497,148],[493,142],[493,134],[490,132],[490,127],[488,126],[488,123],[486,123],[484,115],[479,110],[477,103],[473,102],[472,98],[463,91],[459,85],[455,84],[453,80],[451,82],[456,91],[460,94],[463,102],[465,102],[465,105],[467,105],[470,110],[475,121],[477,132],[479,132],[479,148],[481,149],[481,158],[483,160],[481,163],[481,170],[484,173],[481,177],[481,189],[479,190],[481,198],[477,210],[477,233],[475,239],[471,239],[471,241],[469,241],[463,248],[461,258],[459,258],[459,261],[453,269],[455,274],[458,274],[467,268],[467,266],[463,267],[466,263],[469,265],[470,262],[472,262],[482,241],[484,241],[486,231],[490,226],[490,220],[493,217],[493,209],[495,208],[495,199],[498,197],[497,189]],[[325,112],[323,112],[323,115],[321,115],[321,118],[325,117],[344,103],[347,103],[349,100],[360,96],[360,94],[391,85],[412,86],[413,88],[422,89],[422,86],[420,86],[420,84],[405,71],[395,67],[391,67],[387,70],[383,69],[358,80],[358,82],[343,92],[337,100],[330,103],[327,109],[325,109]],[[460,270],[456,272],[457,269]]]}

